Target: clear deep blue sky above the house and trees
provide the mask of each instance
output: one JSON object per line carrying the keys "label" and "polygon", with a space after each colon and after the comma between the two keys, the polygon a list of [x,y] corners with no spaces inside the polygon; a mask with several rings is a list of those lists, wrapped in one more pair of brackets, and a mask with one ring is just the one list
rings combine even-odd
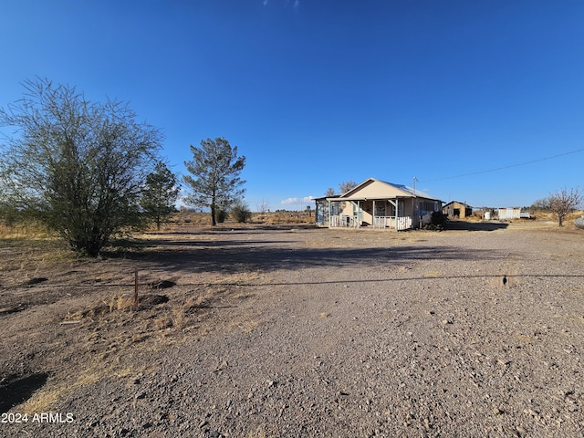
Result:
{"label": "clear deep blue sky above the house and trees", "polygon": [[370,176],[474,206],[584,188],[580,0],[3,0],[0,54],[0,106],[35,77],[128,101],[174,172],[225,137],[252,210]]}

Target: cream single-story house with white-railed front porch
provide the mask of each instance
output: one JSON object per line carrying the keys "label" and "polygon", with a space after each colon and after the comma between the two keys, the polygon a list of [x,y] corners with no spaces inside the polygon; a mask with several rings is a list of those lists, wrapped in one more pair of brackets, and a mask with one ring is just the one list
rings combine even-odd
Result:
{"label": "cream single-story house with white-railed front porch", "polygon": [[401,184],[369,178],[347,193],[315,199],[316,223],[328,228],[372,226],[396,231],[430,223],[442,201]]}

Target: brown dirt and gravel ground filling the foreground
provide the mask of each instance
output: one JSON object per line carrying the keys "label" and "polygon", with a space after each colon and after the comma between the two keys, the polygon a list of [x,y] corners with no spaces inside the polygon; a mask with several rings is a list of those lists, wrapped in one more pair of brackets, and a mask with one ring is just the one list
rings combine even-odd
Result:
{"label": "brown dirt and gravel ground filling the foreground", "polygon": [[573,226],[184,224],[0,264],[1,436],[583,436]]}

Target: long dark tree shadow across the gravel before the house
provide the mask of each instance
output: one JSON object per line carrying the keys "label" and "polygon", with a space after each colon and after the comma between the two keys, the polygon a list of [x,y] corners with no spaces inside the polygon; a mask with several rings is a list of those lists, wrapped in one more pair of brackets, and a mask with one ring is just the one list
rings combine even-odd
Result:
{"label": "long dark tree shadow across the gravel before the house", "polygon": [[396,245],[381,247],[305,247],[278,240],[156,240],[151,250],[129,252],[125,259],[169,272],[269,272],[309,267],[407,266],[421,260],[492,261],[491,250],[456,246]]}

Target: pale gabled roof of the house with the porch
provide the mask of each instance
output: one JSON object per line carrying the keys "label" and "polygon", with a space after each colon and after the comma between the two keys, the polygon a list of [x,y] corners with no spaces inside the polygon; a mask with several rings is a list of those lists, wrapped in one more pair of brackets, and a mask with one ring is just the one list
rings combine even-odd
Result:
{"label": "pale gabled roof of the house with the porch", "polygon": [[329,200],[339,201],[362,201],[366,199],[395,199],[395,198],[423,198],[432,201],[441,201],[428,193],[419,190],[414,191],[412,187],[402,184],[387,183],[377,178],[368,178],[364,182],[353,187],[349,192],[339,196],[328,197]]}

